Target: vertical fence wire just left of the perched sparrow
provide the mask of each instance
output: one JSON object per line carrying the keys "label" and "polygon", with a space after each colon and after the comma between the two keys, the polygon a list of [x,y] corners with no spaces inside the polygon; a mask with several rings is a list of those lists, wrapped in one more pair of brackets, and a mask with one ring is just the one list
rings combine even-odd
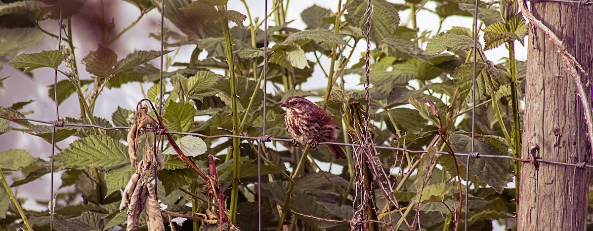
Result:
{"label": "vertical fence wire just left of the perched sparrow", "polygon": [[[262,123],[262,139],[266,137],[266,114],[267,114],[267,95],[266,95],[266,82],[267,82],[267,0],[264,0],[264,18],[263,18],[263,123]],[[256,28],[257,30],[257,28]],[[254,72],[256,70],[253,70]],[[259,145],[257,145],[257,227],[258,230],[262,230],[262,145],[263,140],[259,139]]]}

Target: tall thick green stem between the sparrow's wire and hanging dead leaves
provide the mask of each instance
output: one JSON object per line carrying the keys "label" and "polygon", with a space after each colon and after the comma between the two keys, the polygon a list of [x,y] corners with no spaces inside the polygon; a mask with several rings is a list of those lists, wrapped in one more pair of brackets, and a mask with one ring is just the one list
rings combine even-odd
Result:
{"label": "tall thick green stem between the sparrow's wire and hanging dead leaves", "polygon": [[[219,5],[219,10],[227,10],[227,5]],[[225,44],[227,46],[227,63],[228,63],[228,70],[229,76],[231,78],[231,110],[232,110],[232,134],[235,136],[239,135],[239,119],[238,119],[238,109],[237,109],[237,86],[236,86],[236,79],[235,79],[235,68],[234,68],[234,60],[232,56],[232,43],[231,43],[231,31],[228,28],[228,20],[225,18],[222,21],[222,28],[224,33]],[[235,223],[235,219],[237,217],[237,198],[239,195],[239,166],[240,166],[240,145],[241,141],[238,138],[232,138],[232,190],[231,190],[231,202],[229,208],[229,219],[231,219],[232,223]],[[228,156],[227,156],[228,159]]]}

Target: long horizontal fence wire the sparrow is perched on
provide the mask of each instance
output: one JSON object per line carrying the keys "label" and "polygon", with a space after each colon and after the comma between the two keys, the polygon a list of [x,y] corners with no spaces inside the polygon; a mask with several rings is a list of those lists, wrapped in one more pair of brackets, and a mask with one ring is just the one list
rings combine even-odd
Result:
{"label": "long horizontal fence wire the sparrow is perched on", "polygon": [[[123,127],[123,126],[119,126],[119,127],[102,127],[102,126],[98,126],[98,125],[93,125],[93,124],[79,124],[79,123],[64,123],[63,121],[46,121],[46,120],[36,120],[33,118],[10,118],[10,117],[6,117],[4,115],[0,115],[0,118],[4,118],[5,120],[9,120],[9,121],[20,121],[20,120],[26,120],[26,121],[33,121],[36,123],[42,123],[42,124],[59,124],[58,127],[61,126],[66,126],[66,127],[93,127],[95,129],[101,129],[101,130],[117,130],[117,129],[131,129],[131,127]],[[219,138],[238,138],[238,139],[245,139],[245,140],[262,140],[264,142],[269,142],[269,141],[282,141],[282,142],[292,142],[292,139],[288,139],[288,138],[281,138],[281,137],[272,137],[272,136],[236,136],[233,134],[221,134],[221,135],[215,135],[215,136],[208,136],[206,134],[200,134],[200,133],[189,133],[189,132],[179,132],[179,131],[169,131],[169,130],[164,130],[164,133],[168,133],[168,134],[178,134],[178,135],[182,135],[182,136],[197,136],[197,137],[202,137],[205,139],[219,139]],[[340,142],[320,142],[320,145],[340,145],[340,146],[350,146],[350,147],[358,147],[361,145],[358,145],[357,143],[340,143]],[[386,150],[396,150],[396,151],[401,151],[401,152],[409,152],[409,153],[426,153],[428,152],[428,150],[410,150],[410,149],[404,149],[403,147],[392,147],[392,146],[381,146],[381,145],[372,145],[374,146],[376,149],[386,149]],[[441,154],[441,155],[451,155],[451,153],[449,152],[442,152],[442,151],[437,151],[436,153]],[[514,161],[521,161],[521,162],[540,162],[540,163],[548,163],[551,165],[564,165],[564,166],[573,166],[576,168],[591,168],[593,169],[593,165],[586,165],[584,162],[581,163],[564,163],[564,162],[557,162],[557,161],[548,161],[548,160],[544,160],[544,159],[520,159],[520,158],[514,158],[512,156],[504,156],[504,155],[488,155],[488,154],[482,154],[482,153],[477,153],[477,152],[473,152],[473,153],[457,153],[455,152],[455,156],[470,156],[470,158],[498,158],[498,159],[512,159]]]}

